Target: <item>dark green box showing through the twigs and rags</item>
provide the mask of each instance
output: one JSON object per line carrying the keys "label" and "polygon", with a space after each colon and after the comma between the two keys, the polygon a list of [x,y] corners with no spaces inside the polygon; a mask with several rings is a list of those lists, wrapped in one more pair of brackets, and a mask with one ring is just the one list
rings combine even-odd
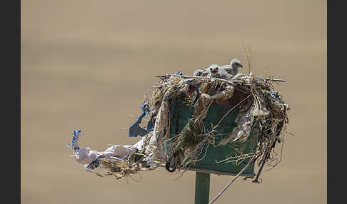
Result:
{"label": "dark green box showing through the twigs and rags", "polygon": [[[211,107],[208,109],[208,113],[206,114],[206,118],[203,119],[203,124],[206,129],[211,128],[212,125],[216,125],[223,116],[231,110],[230,106],[223,106],[221,104],[212,103]],[[171,112],[171,137],[177,135],[182,131],[186,123],[188,123],[188,118],[194,113],[194,108],[192,106],[188,106],[183,101],[178,102],[176,107]],[[216,144],[218,144],[221,139],[225,138],[228,133],[233,131],[233,128],[237,126],[236,117],[238,116],[238,108],[233,108],[219,123],[217,129],[218,135],[216,136]],[[236,175],[249,161],[249,159],[243,160],[243,162],[239,165],[234,165],[229,162],[220,162],[218,161],[225,160],[226,157],[232,157],[236,155],[235,148],[243,147],[243,153],[249,153],[252,149],[256,148],[256,134],[258,132],[258,128],[253,127],[251,131],[251,135],[248,136],[247,141],[243,143],[233,143],[226,144],[224,146],[208,146],[205,158],[196,162],[194,165],[189,166],[189,170],[193,170],[201,173],[214,173],[218,175]],[[206,151],[206,147],[203,149]],[[241,176],[246,176],[252,178],[255,175],[254,173],[254,163],[249,165],[248,168],[241,174]]]}

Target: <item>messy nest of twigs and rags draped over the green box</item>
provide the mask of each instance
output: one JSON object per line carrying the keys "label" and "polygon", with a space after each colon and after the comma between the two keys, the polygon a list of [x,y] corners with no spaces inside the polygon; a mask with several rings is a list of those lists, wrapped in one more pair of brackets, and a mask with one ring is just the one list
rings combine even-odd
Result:
{"label": "messy nest of twigs and rags draped over the green box", "polygon": [[[273,78],[248,76],[239,73],[231,79],[182,76],[168,74],[160,78],[153,90],[145,96],[146,110],[149,110],[151,130],[143,136],[143,146],[139,158],[130,158],[124,163],[104,158],[101,166],[108,169],[108,174],[120,178],[140,170],[152,170],[160,165],[173,172],[203,159],[206,146],[225,146],[245,141],[255,143],[254,148],[244,153],[244,146],[236,146],[236,155],[227,156],[219,162],[239,164],[251,160],[273,168],[281,160],[281,154],[275,152],[276,143],[283,144],[283,131],[288,123],[288,104],[273,89]],[[193,107],[191,118],[180,133],[172,133],[172,116],[178,103]],[[203,123],[212,104],[227,106],[229,111],[218,123],[206,128]],[[221,121],[234,109],[238,109],[236,127],[225,134],[216,143],[217,129]],[[149,125],[148,125],[149,126]],[[256,134],[252,131],[256,128]],[[251,138],[250,140],[250,137]],[[257,175],[257,178],[258,178]],[[257,180],[256,180],[257,181]]]}

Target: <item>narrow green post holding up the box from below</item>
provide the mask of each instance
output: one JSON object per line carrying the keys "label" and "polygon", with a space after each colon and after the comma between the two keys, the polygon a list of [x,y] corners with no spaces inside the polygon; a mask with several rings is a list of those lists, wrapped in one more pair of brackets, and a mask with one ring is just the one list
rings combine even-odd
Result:
{"label": "narrow green post holding up the box from below", "polygon": [[207,204],[210,197],[210,174],[195,174],[195,204]]}

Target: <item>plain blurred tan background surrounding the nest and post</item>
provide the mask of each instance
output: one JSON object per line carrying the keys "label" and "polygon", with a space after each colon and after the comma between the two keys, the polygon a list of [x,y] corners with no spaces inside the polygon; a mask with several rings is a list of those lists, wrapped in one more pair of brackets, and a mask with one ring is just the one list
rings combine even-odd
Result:
{"label": "plain blurred tan background surrounding the nest and post", "polygon": [[[231,58],[290,104],[283,158],[263,183],[236,180],[216,203],[326,203],[326,1],[21,1],[21,203],[193,203],[195,173],[100,178],[66,144],[134,144],[128,128],[155,75]],[[246,69],[241,72],[246,73]],[[136,176],[136,175],[135,175]],[[210,199],[231,176],[211,175]]]}

